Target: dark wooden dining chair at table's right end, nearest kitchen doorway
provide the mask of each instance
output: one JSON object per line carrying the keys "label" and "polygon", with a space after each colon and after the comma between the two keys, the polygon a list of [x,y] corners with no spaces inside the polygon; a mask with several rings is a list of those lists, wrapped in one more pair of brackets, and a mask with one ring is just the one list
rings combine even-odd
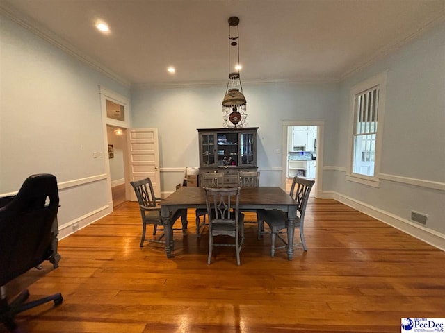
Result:
{"label": "dark wooden dining chair at table's right end, nearest kitchen doorway", "polygon": [[[307,207],[307,201],[309,200],[309,194],[311,193],[312,186],[314,186],[314,180],[307,180],[305,178],[300,178],[298,176],[293,178],[290,196],[297,201],[297,216],[295,228],[300,230],[300,243],[293,244],[298,246],[302,244],[302,247],[307,251],[304,233],[305,224],[305,211]],[[270,246],[270,256],[275,256],[275,250],[279,248],[286,248],[287,241],[281,237],[281,234],[286,233],[287,229],[287,214],[281,210],[258,210],[258,239],[261,238],[261,234],[270,233],[271,246]],[[270,232],[264,232],[263,223],[269,226]],[[293,230],[295,232],[295,229]],[[283,246],[275,246],[275,239],[279,238],[283,241]]]}

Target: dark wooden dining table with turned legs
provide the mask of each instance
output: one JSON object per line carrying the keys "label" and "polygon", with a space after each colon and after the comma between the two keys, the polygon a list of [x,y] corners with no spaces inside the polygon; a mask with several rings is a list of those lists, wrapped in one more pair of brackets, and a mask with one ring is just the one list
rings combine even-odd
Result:
{"label": "dark wooden dining table with turned legs", "polygon": [[[162,200],[161,217],[165,232],[165,253],[172,257],[173,223],[170,221],[172,212],[180,208],[206,208],[206,198],[202,187],[179,187]],[[241,187],[239,209],[242,210],[282,210],[288,214],[287,224],[287,257],[293,259],[293,230],[297,216],[297,201],[280,187]]]}

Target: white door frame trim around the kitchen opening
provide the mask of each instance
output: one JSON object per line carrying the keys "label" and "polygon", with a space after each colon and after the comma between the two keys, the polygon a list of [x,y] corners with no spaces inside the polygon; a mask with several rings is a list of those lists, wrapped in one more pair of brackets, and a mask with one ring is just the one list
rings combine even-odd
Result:
{"label": "white door frame trim around the kitchen opening", "polygon": [[321,198],[323,191],[323,142],[325,135],[325,121],[323,120],[301,120],[282,121],[282,188],[286,188],[287,178],[287,137],[289,128],[293,126],[316,126],[317,127],[317,159],[315,175],[315,197]]}

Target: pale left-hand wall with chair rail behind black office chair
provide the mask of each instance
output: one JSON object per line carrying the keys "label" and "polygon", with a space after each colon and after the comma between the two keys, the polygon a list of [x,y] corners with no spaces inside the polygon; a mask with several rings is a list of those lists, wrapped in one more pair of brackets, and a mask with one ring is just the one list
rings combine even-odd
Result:
{"label": "pale left-hand wall with chair rail behind black office chair", "polygon": [[129,88],[1,15],[0,30],[0,195],[53,173],[62,232],[106,214],[106,158],[92,156],[106,153],[98,85],[124,96]]}

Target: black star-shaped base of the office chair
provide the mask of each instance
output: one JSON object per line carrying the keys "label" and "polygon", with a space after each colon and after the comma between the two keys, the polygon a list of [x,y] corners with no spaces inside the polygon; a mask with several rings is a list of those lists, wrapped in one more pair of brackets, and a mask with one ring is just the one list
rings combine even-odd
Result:
{"label": "black star-shaped base of the office chair", "polygon": [[38,307],[47,302],[54,301],[54,306],[60,305],[63,302],[63,297],[61,293],[54,293],[54,295],[39,298],[38,300],[33,300],[31,302],[25,303],[29,298],[28,289],[22,291],[22,293],[13,300],[13,302],[6,302],[6,298],[0,300],[0,322],[6,326],[10,332],[17,332],[17,324],[14,318],[20,312],[32,309],[33,307]]}

